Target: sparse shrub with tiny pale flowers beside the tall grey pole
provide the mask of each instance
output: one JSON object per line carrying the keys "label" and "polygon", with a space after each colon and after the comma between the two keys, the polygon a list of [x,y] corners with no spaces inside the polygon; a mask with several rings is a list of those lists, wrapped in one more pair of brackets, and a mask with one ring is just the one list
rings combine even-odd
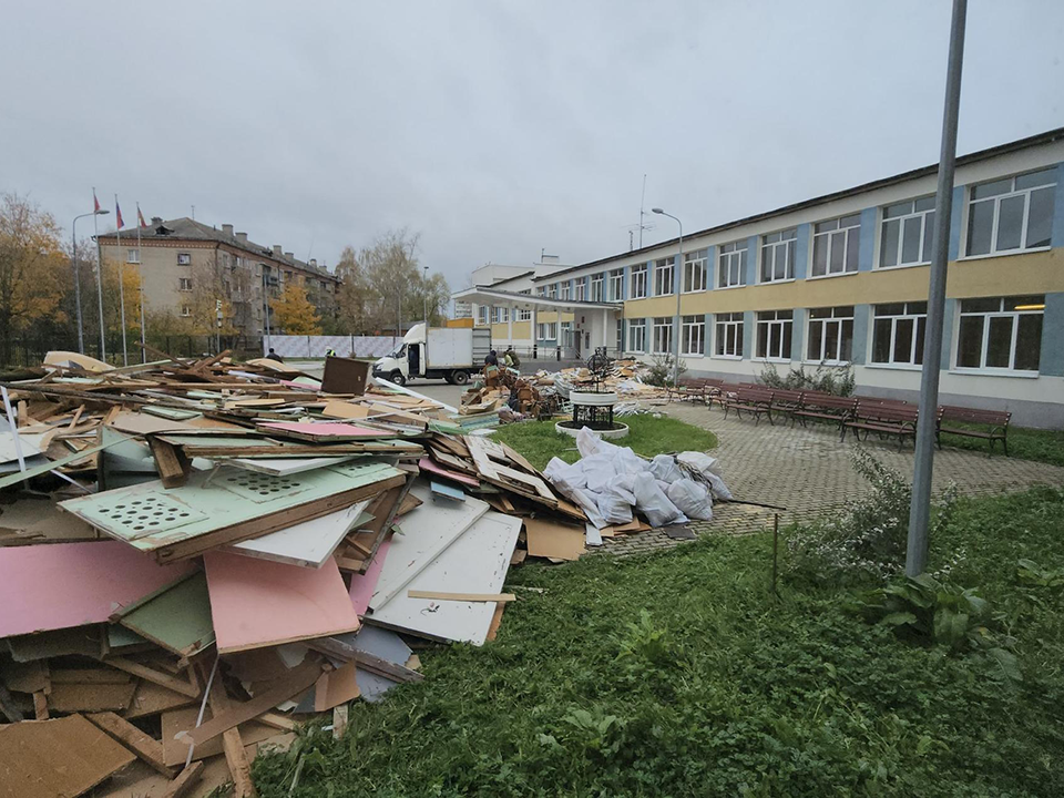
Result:
{"label": "sparse shrub with tiny pale flowers beside the tall grey pole", "polygon": [[[912,485],[864,449],[855,452],[853,468],[871,484],[871,492],[790,532],[792,573],[817,583],[856,584],[888,580],[904,566]],[[956,485],[950,484],[933,507],[932,540],[949,528],[955,501]],[[949,575],[962,559],[963,551],[956,552],[938,575]]]}

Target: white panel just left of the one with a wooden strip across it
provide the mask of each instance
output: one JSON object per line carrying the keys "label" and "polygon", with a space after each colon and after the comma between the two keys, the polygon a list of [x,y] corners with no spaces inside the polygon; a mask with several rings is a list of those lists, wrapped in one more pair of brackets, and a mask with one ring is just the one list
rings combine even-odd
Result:
{"label": "white panel just left of the one with a wooden strip across it", "polygon": [[[422,480],[410,492],[427,502],[431,491]],[[409,582],[459,535],[488,512],[488,503],[469,498],[453,505],[422,504],[402,518],[402,534],[391,540],[391,551],[380,572],[369,606],[377,610],[402,591]]]}

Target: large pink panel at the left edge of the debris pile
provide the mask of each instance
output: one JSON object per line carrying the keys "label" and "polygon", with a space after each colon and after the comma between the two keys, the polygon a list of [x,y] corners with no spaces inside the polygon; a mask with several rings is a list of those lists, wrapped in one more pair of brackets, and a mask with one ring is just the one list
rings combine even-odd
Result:
{"label": "large pink panel at the left edge of the debris pile", "polygon": [[20,607],[0,613],[0,637],[102,623],[192,570],[116,541],[0,549],[0,606]]}

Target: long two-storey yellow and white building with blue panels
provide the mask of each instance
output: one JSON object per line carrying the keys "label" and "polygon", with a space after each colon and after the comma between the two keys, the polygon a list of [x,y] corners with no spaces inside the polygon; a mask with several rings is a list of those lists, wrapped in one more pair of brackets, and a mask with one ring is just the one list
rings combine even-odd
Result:
{"label": "long two-storey yellow and white building with blue panels", "polygon": [[[932,165],[698,231],[681,263],[672,239],[533,277],[532,295],[605,303],[608,318],[577,313],[574,328],[612,351],[648,360],[679,336],[692,376],[849,365],[858,392],[914,399],[935,175]],[[513,300],[498,288],[463,298]],[[947,297],[941,400],[1064,427],[1064,129],[958,158]],[[541,345],[559,335],[534,331]]]}

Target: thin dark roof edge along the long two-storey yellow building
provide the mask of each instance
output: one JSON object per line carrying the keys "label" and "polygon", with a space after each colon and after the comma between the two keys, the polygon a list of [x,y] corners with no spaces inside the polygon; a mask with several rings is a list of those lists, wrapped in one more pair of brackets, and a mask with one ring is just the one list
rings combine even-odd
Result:
{"label": "thin dark roof edge along the long two-storey yellow building", "polygon": [[[978,152],[969,153],[968,155],[960,155],[956,158],[958,166],[964,166],[966,164],[976,163],[979,161],[985,161],[998,155],[1005,155],[1007,153],[1016,152],[1017,150],[1024,150],[1029,146],[1035,146],[1037,144],[1052,144],[1053,142],[1064,140],[1064,127],[1054,127],[1053,130],[1045,131],[1044,133],[1037,133],[1025,139],[1016,139],[1015,141],[1006,142],[1005,144],[998,144],[996,146],[989,147],[986,150],[979,150]],[[927,177],[928,175],[933,175],[938,173],[939,164],[933,163],[930,166],[921,166],[920,168],[910,170],[909,172],[902,172],[900,174],[891,175],[890,177],[881,177],[874,180],[870,183],[862,183],[861,185],[853,186],[851,188],[843,188],[841,191],[832,192],[830,194],[823,194],[822,196],[812,197],[811,200],[802,200],[798,203],[792,203],[790,205],[784,205],[774,211],[767,211],[764,213],[755,214],[753,216],[746,216],[740,219],[735,219],[733,222],[725,222],[724,224],[716,225],[714,227],[706,227],[705,229],[695,231],[694,233],[688,233],[684,236],[685,239],[696,238],[703,235],[710,235],[713,233],[723,233],[725,231],[732,229],[733,227],[740,227],[746,224],[754,224],[756,222],[764,222],[770,219],[774,216],[782,216],[784,214],[794,213],[795,211],[802,211],[805,208],[815,207],[817,205],[823,205],[829,202],[835,202],[836,200],[843,200],[846,197],[856,196],[858,194],[864,194],[866,192],[874,191],[877,188],[884,188],[887,186],[894,185],[897,183],[904,183],[906,181],[917,180],[918,177]],[[610,255],[607,257],[598,258],[596,260],[589,260],[587,263],[580,264],[579,266],[570,266],[559,272],[554,272],[549,275],[543,275],[542,277],[533,277],[533,283],[550,283],[553,278],[559,277],[563,274],[570,272],[576,272],[579,269],[590,268],[592,266],[597,266],[600,264],[613,263],[620,258],[632,257],[633,255],[638,255],[640,253],[649,253],[655,249],[661,249],[662,247],[672,246],[677,244],[679,238],[667,238],[663,242],[657,242],[656,244],[649,244],[640,249],[632,249],[631,252],[617,253],[616,255]]]}

